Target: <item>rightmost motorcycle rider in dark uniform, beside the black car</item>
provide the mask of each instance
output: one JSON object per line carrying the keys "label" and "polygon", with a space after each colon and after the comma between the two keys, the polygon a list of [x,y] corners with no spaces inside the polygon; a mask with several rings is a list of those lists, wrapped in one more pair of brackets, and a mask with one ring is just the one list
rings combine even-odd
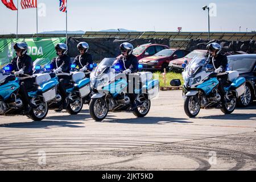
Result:
{"label": "rightmost motorcycle rider in dark uniform, beside the black car", "polygon": [[226,73],[226,68],[228,65],[228,58],[221,52],[221,45],[218,43],[210,43],[207,45],[209,51],[209,64],[213,65],[214,72],[217,73],[218,81],[218,90],[220,90],[220,96],[222,104],[226,103],[225,100],[225,90],[224,86],[228,80],[228,73]]}

